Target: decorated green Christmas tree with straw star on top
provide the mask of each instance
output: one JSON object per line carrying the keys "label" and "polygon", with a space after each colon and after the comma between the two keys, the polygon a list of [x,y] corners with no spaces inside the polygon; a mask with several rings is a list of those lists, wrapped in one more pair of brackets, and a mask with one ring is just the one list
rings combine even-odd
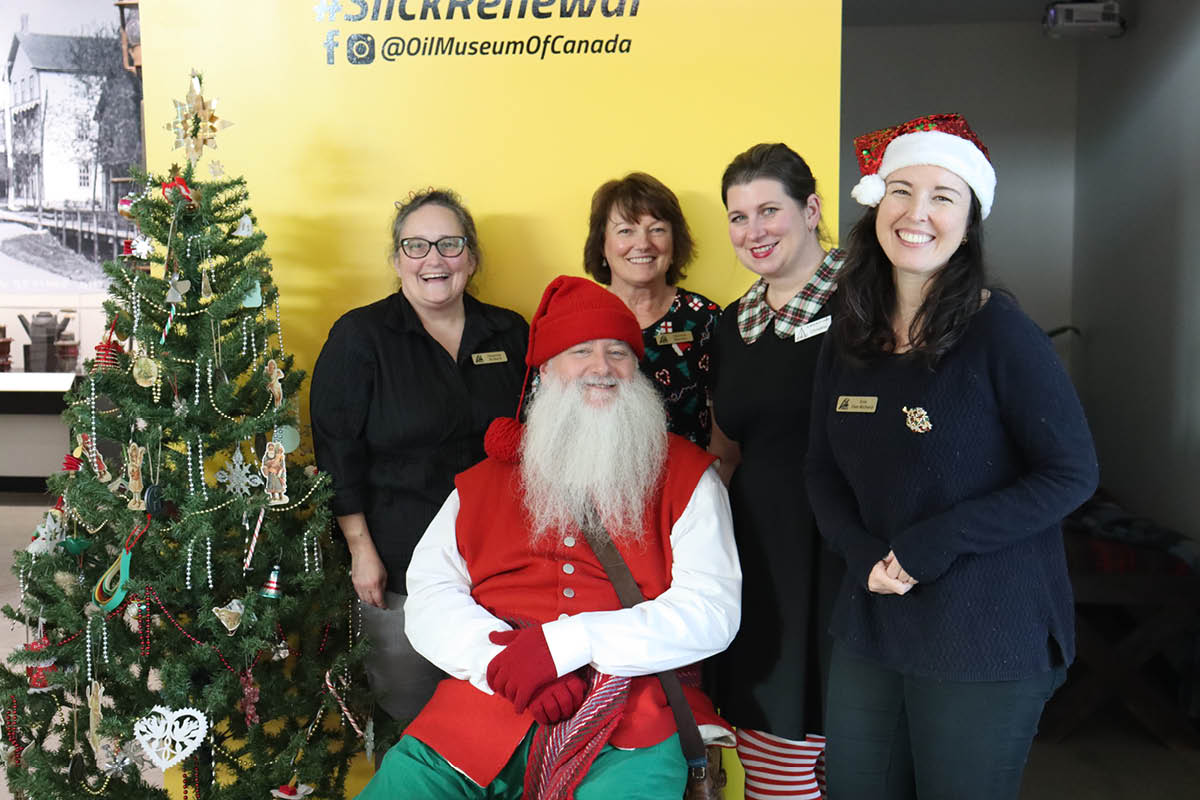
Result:
{"label": "decorated green Christmas tree with straw star on top", "polygon": [[30,631],[0,670],[18,796],[166,798],[143,771],[178,765],[197,800],[341,798],[370,752],[265,235],[244,180],[197,175],[224,125],[193,76],[169,126],[186,167],[136,175],[121,204],[139,235],[106,264],[108,335],[64,415],[74,452],[4,609]]}

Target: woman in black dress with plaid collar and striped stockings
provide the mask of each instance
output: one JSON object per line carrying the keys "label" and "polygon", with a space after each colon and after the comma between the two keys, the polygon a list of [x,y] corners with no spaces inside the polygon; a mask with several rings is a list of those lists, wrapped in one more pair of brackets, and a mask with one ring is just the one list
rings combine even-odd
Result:
{"label": "woman in black dress with plaid collar and striped stockings", "polygon": [[742,630],[720,657],[716,700],[738,727],[746,798],[817,798],[826,628],[844,567],[817,535],[800,467],[845,254],[826,248],[816,179],[787,145],[737,156],[721,196],[733,249],[758,279],[725,309],[716,336],[714,431],[740,446],[740,462],[721,468],[745,575]]}

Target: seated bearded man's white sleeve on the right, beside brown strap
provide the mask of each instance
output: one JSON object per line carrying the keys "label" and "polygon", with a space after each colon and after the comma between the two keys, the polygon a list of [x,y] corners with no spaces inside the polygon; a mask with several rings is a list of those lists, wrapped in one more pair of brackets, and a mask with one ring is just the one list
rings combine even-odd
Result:
{"label": "seated bearded man's white sleeve on the right, beside brown strap", "polygon": [[712,467],[671,529],[671,587],[654,600],[542,625],[559,675],[583,664],[648,675],[730,646],[742,621],[742,567],[730,498]]}

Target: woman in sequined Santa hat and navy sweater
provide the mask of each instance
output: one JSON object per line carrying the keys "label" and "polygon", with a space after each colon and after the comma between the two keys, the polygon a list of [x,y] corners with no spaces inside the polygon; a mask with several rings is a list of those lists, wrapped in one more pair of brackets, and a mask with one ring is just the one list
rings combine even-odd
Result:
{"label": "woman in sequined Santa hat and navy sweater", "polygon": [[854,140],[872,206],[817,363],[809,495],[846,559],[830,796],[1014,799],[1074,656],[1062,518],[1098,467],[1046,336],[984,284],[996,176],[956,114]]}

